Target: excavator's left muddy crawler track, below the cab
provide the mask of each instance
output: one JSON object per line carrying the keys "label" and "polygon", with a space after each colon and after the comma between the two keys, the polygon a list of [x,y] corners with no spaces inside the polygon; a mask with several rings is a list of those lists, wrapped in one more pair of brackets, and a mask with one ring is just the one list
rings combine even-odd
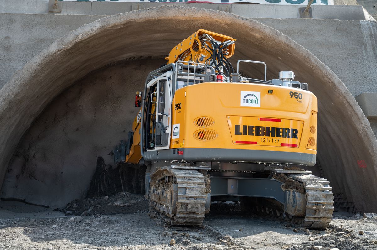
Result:
{"label": "excavator's left muddy crawler track, below the cab", "polygon": [[201,225],[204,220],[206,187],[196,170],[157,168],[150,180],[150,209],[162,213],[171,225]]}

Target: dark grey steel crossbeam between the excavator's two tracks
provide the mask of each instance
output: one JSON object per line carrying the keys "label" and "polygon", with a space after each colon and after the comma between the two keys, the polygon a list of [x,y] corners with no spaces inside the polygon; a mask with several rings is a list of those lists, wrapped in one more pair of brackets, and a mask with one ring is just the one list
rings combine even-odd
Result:
{"label": "dark grey steel crossbeam between the excavator's two tracks", "polygon": [[283,183],[274,179],[262,178],[237,178],[236,193],[229,193],[228,178],[211,177],[211,196],[248,196],[274,198],[280,203],[285,203],[285,192],[281,188]]}

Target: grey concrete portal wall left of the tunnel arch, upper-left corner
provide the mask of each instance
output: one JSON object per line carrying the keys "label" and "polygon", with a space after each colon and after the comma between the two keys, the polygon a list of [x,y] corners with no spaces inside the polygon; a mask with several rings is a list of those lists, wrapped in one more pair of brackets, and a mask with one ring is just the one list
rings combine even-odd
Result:
{"label": "grey concrete portal wall left of the tunnel arch, upper-left corner", "polygon": [[103,17],[0,13],[0,88],[56,39]]}

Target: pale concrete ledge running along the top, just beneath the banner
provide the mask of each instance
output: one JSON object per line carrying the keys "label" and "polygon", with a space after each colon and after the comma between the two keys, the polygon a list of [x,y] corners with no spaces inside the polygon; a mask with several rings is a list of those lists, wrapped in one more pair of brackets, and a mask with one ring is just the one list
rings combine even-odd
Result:
{"label": "pale concrete ledge running along the top, just beneath the banner", "polygon": [[[333,6],[312,5],[313,19],[370,20],[364,9],[352,0],[335,0]],[[345,4],[347,6],[345,6]],[[49,12],[47,0],[0,0],[0,12],[55,15],[116,15],[162,5],[190,6],[227,11],[243,17],[299,18],[298,8],[305,5],[211,4],[211,3],[152,3],[138,2],[59,2],[60,12]],[[50,9],[51,10],[51,9]],[[56,10],[54,10],[56,11]]]}

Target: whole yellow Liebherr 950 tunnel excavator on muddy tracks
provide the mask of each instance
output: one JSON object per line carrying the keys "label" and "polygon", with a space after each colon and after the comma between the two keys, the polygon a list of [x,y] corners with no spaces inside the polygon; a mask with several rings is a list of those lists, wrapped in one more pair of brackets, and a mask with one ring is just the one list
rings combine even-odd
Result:
{"label": "whole yellow Liebherr 950 tunnel excavator on muddy tracks", "polygon": [[[325,228],[329,182],[299,168],[316,164],[317,98],[292,71],[267,80],[266,64],[248,60],[235,71],[235,42],[201,29],[170,51],[136,93],[115,164],[147,166],[150,208],[172,225],[201,225],[218,200]],[[241,62],[262,64],[264,79],[242,77]]]}

